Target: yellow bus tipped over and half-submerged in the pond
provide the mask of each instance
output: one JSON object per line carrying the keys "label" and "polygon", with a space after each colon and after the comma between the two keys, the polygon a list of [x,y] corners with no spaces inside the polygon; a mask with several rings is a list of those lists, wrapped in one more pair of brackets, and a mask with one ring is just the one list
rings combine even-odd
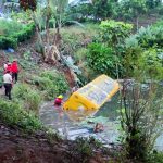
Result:
{"label": "yellow bus tipped over and half-submerged in the pond", "polygon": [[86,114],[97,112],[120,89],[120,84],[101,75],[86,86],[72,93],[63,104],[65,111],[82,111]]}

